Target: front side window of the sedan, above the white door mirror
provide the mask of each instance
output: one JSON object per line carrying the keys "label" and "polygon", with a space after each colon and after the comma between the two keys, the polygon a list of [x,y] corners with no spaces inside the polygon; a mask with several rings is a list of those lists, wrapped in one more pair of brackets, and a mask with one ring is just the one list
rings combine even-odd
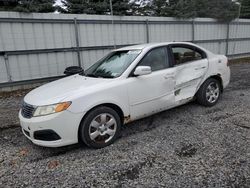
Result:
{"label": "front side window of the sedan, above the white door mirror", "polygon": [[165,47],[156,48],[148,52],[139,66],[150,66],[152,71],[168,68],[169,61]]}

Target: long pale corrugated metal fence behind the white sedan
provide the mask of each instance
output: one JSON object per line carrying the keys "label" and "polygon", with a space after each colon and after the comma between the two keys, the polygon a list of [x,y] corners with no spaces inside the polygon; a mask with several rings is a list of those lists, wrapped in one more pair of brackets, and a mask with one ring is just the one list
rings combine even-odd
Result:
{"label": "long pale corrugated metal fence behind the white sedan", "polygon": [[0,88],[88,68],[113,48],[190,41],[229,57],[250,55],[250,20],[0,12]]}

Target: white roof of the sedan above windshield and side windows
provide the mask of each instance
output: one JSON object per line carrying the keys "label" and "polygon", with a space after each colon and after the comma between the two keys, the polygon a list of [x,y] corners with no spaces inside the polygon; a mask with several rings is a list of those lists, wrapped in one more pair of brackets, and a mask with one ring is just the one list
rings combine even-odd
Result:
{"label": "white roof of the sedan above windshield and side windows", "polygon": [[126,46],[120,49],[117,49],[115,51],[120,51],[120,50],[143,50],[146,48],[155,48],[159,46],[166,46],[169,44],[189,44],[192,46],[195,46],[193,43],[190,42],[160,42],[160,43],[147,43],[147,44],[138,44],[138,45],[133,45],[133,46]]}

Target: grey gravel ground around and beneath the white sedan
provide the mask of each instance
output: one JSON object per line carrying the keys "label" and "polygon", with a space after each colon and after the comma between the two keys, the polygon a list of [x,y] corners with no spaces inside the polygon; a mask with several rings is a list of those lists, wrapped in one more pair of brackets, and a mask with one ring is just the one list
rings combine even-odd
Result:
{"label": "grey gravel ground around and beneath the white sedan", "polygon": [[33,145],[17,119],[23,93],[1,97],[0,187],[250,187],[250,64],[231,71],[216,106],[136,121],[99,150]]}

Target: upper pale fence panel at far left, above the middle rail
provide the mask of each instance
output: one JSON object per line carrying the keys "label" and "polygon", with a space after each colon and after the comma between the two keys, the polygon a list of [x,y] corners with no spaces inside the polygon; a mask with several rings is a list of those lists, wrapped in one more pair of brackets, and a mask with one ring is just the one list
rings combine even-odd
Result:
{"label": "upper pale fence panel at far left, above the middle rail", "polygon": [[1,23],[0,51],[75,46],[73,24]]}

